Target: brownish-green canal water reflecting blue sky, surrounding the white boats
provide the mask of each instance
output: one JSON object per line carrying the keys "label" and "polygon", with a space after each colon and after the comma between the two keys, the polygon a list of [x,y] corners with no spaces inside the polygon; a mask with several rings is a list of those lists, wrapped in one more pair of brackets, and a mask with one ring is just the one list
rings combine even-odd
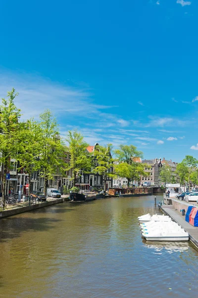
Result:
{"label": "brownish-green canal water reflecting blue sky, surrounding the white boats", "polygon": [[137,217],[148,212],[158,213],[153,196],[0,220],[0,298],[197,297],[198,250],[145,241]]}

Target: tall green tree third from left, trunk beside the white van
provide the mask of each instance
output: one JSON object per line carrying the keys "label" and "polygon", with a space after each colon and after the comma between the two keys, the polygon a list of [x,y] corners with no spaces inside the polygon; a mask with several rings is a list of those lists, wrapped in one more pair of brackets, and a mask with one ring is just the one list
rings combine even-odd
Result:
{"label": "tall green tree third from left, trunk beside the white van", "polygon": [[41,146],[39,154],[40,177],[45,178],[44,193],[47,195],[48,181],[54,174],[62,174],[65,171],[63,161],[64,144],[59,136],[56,119],[50,110],[45,110],[40,115]]}

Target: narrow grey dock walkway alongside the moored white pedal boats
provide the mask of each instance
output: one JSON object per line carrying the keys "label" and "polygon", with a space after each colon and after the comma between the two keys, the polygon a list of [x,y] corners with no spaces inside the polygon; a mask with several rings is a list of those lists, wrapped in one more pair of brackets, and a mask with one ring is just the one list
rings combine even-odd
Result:
{"label": "narrow grey dock walkway alongside the moored white pedal boats", "polygon": [[[190,205],[189,205],[190,206]],[[185,216],[182,216],[181,212],[175,210],[171,206],[162,205],[159,209],[166,215],[168,215],[174,222],[181,225],[186,232],[189,233],[189,238],[198,247],[198,226],[193,226],[185,221]]]}

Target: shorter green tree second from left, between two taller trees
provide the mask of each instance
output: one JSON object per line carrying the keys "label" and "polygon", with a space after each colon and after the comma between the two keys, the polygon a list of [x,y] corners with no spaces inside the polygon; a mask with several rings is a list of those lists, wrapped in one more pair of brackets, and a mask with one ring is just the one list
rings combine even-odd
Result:
{"label": "shorter green tree second from left, between two taller trees", "polygon": [[17,159],[20,166],[28,173],[29,188],[31,194],[31,176],[39,169],[39,155],[42,147],[42,130],[40,123],[34,119],[27,120],[21,124],[20,146]]}

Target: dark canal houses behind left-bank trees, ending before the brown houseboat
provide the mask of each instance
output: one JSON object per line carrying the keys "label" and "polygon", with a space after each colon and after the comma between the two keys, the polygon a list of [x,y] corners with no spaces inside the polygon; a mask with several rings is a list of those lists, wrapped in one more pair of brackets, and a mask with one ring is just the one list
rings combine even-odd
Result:
{"label": "dark canal houses behind left-bank trees, ending before the brown houseboat", "polygon": [[[89,146],[87,148],[88,152],[94,152],[96,146],[99,145],[98,143],[95,146]],[[69,163],[71,159],[71,155],[68,152],[65,152],[64,162]],[[44,188],[44,178],[40,177],[40,171],[35,171],[32,173],[32,176],[29,177],[27,173],[21,168],[19,170],[19,163],[16,159],[11,158],[11,169],[9,173],[6,174],[6,194],[17,194],[19,190],[22,194],[27,193],[26,185],[31,183],[32,190],[39,190],[42,191]],[[94,160],[94,165],[98,165],[98,161]],[[113,171],[113,167],[109,169],[110,172]],[[91,169],[91,173],[80,173],[81,175],[78,177],[77,186],[83,190],[91,190],[95,189],[102,189],[104,186],[104,179],[103,175],[99,175],[98,173],[94,173],[94,167]],[[2,175],[3,169],[0,165],[0,196],[2,192]],[[60,173],[54,173],[53,179],[48,181],[48,186],[50,188],[59,189],[62,191],[63,187],[66,188],[72,187],[71,181],[71,170],[65,172],[65,176],[61,175]],[[30,178],[30,179],[29,179]],[[106,188],[112,187],[112,178],[107,179],[106,181]]]}

